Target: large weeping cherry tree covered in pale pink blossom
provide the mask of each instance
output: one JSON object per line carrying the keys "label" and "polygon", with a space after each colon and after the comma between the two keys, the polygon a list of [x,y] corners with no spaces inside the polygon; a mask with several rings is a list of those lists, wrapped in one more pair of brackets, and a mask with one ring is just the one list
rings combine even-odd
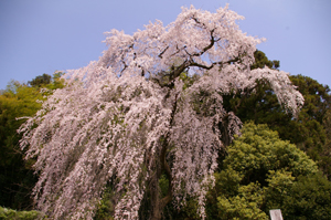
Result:
{"label": "large weeping cherry tree covered in pale pink blossom", "polygon": [[188,196],[204,219],[218,150],[242,126],[222,95],[254,92],[265,81],[289,114],[303,104],[288,73],[250,70],[264,39],[243,33],[242,19],[227,7],[191,7],[166,27],[108,32],[103,56],[68,71],[66,86],[19,130],[26,158],[36,158],[38,208],[52,219],[92,219],[111,184],[115,219],[138,219],[146,198],[150,219],[161,219],[167,203],[180,208]]}

